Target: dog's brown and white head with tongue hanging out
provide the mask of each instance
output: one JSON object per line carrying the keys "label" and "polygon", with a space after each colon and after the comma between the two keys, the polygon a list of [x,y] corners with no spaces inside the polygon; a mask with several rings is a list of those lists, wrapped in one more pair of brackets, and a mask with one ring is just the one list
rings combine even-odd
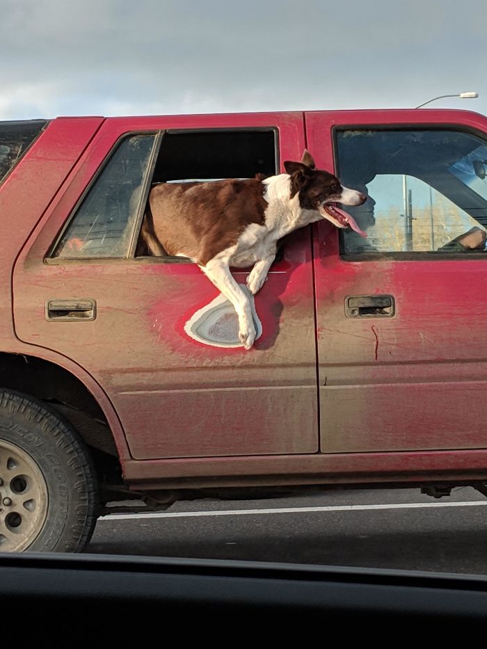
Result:
{"label": "dog's brown and white head with tongue hanging out", "polygon": [[303,153],[301,162],[287,161],[284,168],[291,179],[291,198],[298,194],[302,209],[317,211],[333,225],[351,227],[362,237],[367,237],[353,216],[336,205],[362,205],[367,200],[367,195],[344,187],[333,174],[315,168],[314,160],[307,150]]}

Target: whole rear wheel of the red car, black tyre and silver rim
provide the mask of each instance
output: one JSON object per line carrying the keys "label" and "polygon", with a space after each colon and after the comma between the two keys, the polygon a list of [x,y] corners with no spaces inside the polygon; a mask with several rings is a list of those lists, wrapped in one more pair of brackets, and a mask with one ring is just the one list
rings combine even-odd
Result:
{"label": "whole rear wheel of the red car, black tyre and silver rim", "polygon": [[0,552],[79,552],[98,511],[95,467],[72,426],[0,389]]}

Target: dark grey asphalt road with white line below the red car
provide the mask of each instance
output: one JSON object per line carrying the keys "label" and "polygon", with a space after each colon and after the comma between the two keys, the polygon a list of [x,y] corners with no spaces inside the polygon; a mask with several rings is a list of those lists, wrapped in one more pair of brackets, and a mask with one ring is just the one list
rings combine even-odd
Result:
{"label": "dark grey asphalt road with white line below the red car", "polygon": [[100,518],[88,552],[487,574],[487,499],[463,487],[439,500],[404,489],[184,501]]}

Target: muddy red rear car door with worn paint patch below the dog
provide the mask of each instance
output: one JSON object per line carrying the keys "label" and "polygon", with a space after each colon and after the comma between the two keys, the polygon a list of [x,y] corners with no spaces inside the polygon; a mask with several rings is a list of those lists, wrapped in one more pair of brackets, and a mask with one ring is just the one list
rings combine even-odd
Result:
{"label": "muddy red rear car door with worn paint patch below the dog", "polygon": [[[208,134],[216,145],[201,144]],[[317,451],[310,230],[289,239],[255,298],[262,335],[250,351],[232,346],[234,314],[195,264],[137,252],[156,175],[275,173],[303,147],[302,113],[108,119],[19,255],[17,336],[95,377],[134,458]],[[234,277],[245,284],[247,274]]]}

